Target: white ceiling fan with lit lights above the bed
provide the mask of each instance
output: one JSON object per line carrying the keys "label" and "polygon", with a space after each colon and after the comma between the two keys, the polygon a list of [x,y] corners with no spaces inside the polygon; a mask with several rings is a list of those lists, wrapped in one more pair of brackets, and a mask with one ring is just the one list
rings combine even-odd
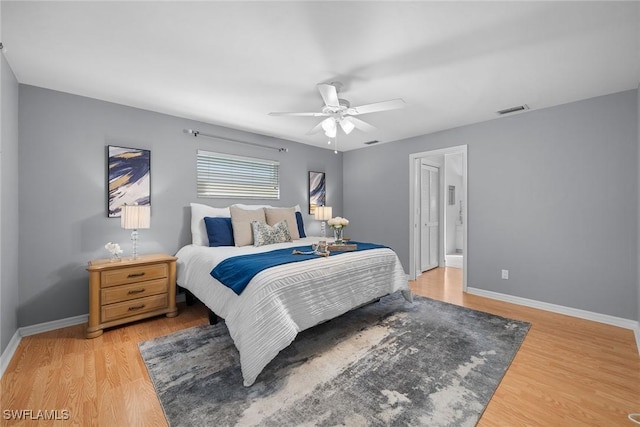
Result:
{"label": "white ceiling fan with lit lights above the bed", "polygon": [[346,99],[338,98],[338,90],[342,88],[340,82],[321,83],[316,86],[320,92],[320,96],[324,100],[324,107],[320,112],[309,113],[291,113],[278,112],[269,113],[270,116],[307,116],[307,117],[326,117],[316,126],[314,126],[308,135],[318,133],[324,130],[329,138],[335,138],[338,132],[338,126],[342,128],[344,133],[349,135],[354,129],[364,132],[371,132],[376,128],[369,123],[354,117],[361,114],[377,113],[379,111],[396,110],[403,108],[406,104],[401,98],[391,99],[389,101],[375,102],[373,104],[360,105],[352,107],[351,103]]}

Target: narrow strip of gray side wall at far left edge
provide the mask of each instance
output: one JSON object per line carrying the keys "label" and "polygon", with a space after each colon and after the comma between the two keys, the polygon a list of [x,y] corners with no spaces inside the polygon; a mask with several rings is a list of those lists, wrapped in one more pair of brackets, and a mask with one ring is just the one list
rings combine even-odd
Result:
{"label": "narrow strip of gray side wall at far left edge", "polygon": [[18,328],[18,81],[0,53],[0,353]]}

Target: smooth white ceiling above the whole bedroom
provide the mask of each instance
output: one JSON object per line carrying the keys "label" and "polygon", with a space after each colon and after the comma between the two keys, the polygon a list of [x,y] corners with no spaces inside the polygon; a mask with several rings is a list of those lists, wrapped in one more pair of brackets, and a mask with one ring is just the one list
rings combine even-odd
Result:
{"label": "smooth white ceiling above the whole bedroom", "polygon": [[[18,81],[328,148],[315,85],[359,116],[341,151],[623,90],[640,82],[637,2],[2,1]],[[519,113],[519,114],[527,114]]]}

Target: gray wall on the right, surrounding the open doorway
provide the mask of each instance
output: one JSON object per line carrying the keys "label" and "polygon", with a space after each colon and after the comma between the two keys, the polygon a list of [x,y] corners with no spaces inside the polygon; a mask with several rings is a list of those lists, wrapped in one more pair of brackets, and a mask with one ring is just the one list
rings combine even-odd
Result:
{"label": "gray wall on the right, surrounding the open doorway", "polygon": [[638,318],[637,90],[345,153],[350,237],[408,271],[409,155],[461,144],[470,287]]}

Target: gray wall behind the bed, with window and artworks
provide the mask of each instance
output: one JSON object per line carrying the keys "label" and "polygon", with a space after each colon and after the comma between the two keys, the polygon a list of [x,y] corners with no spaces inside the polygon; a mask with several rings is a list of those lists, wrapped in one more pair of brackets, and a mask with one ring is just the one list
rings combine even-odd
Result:
{"label": "gray wall behind the bed, with window and artworks", "polygon": [[[183,128],[284,146],[289,152],[193,138]],[[175,253],[190,243],[190,202],[300,204],[305,211],[309,170],[327,173],[327,203],[342,210],[342,154],[20,85],[19,326],[87,313],[87,261],[106,257],[108,241],[130,253],[130,233],[120,228],[119,219],[106,216],[107,145],[151,150],[151,228],[140,231],[141,253]],[[281,199],[198,199],[198,148],[280,160]],[[311,232],[319,233],[311,216],[304,219]]]}

